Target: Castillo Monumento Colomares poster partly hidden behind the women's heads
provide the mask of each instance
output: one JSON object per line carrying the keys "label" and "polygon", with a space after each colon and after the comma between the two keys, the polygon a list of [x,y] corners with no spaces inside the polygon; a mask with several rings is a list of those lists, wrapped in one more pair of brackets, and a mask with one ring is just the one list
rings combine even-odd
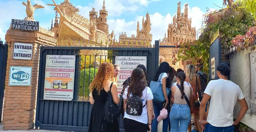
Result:
{"label": "Castillo Monumento Colomares poster partly hidden behind the women's heads", "polygon": [[116,56],[115,64],[120,66],[120,73],[117,76],[117,92],[120,95],[124,81],[131,76],[132,70],[143,64],[147,67],[147,57]]}

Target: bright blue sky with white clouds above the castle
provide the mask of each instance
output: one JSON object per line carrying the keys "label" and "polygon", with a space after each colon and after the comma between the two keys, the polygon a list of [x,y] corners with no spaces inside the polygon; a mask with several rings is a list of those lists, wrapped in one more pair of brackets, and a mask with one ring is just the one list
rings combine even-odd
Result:
{"label": "bright blue sky with white clouds above the castle", "polygon": [[[26,0],[0,0],[0,38],[5,41],[5,34],[10,27],[12,19],[23,20],[26,17],[25,6],[22,2]],[[55,0],[57,4],[64,0]],[[151,20],[152,40],[159,40],[167,32],[168,24],[172,23],[173,16],[177,13],[177,3],[181,1],[181,12],[184,12],[184,4],[188,3],[188,17],[192,18],[192,27],[196,30],[201,28],[204,14],[220,9],[222,0],[105,0],[108,10],[107,22],[109,32],[114,30],[118,40],[121,32],[126,32],[127,36],[136,36],[137,22],[142,28],[142,17],[149,13]],[[45,8],[36,9],[34,19],[39,21],[39,26],[45,29],[51,27],[51,21],[55,17],[52,0],[31,0],[32,5],[38,3]],[[79,9],[78,14],[89,19],[89,11],[92,7],[102,9],[103,0],[70,0]],[[216,6],[216,5],[220,6]],[[209,9],[209,10],[208,10]]]}

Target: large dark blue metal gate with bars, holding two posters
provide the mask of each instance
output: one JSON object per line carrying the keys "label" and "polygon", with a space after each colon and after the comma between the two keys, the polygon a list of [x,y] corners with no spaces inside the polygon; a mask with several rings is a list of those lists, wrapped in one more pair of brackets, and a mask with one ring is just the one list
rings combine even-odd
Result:
{"label": "large dark blue metal gate with bars, holding two posters", "polygon": [[[94,55],[89,54],[95,52]],[[107,51],[107,54],[98,54]],[[46,55],[75,55],[75,78],[73,101],[43,100]],[[44,47],[40,48],[39,80],[37,92],[35,127],[42,130],[87,132],[92,105],[88,86],[93,80],[97,65],[115,63],[116,56],[146,56],[149,81],[158,69],[159,41],[154,48],[139,47]],[[120,131],[123,120],[119,118]]]}

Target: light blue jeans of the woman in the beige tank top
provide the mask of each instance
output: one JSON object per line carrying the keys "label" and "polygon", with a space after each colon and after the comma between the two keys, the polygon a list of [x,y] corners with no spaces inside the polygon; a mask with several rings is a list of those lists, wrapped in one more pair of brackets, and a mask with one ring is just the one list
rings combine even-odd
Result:
{"label": "light blue jeans of the woman in the beige tank top", "polygon": [[190,120],[191,114],[188,105],[172,105],[170,112],[170,132],[187,132],[187,127],[190,124]]}

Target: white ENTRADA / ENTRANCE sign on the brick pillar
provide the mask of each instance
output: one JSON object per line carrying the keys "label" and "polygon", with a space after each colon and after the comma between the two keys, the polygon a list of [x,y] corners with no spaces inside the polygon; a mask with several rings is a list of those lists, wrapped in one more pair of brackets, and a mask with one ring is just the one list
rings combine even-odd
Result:
{"label": "white ENTRADA / ENTRANCE sign on the brick pillar", "polygon": [[32,60],[33,44],[14,43],[13,59]]}

